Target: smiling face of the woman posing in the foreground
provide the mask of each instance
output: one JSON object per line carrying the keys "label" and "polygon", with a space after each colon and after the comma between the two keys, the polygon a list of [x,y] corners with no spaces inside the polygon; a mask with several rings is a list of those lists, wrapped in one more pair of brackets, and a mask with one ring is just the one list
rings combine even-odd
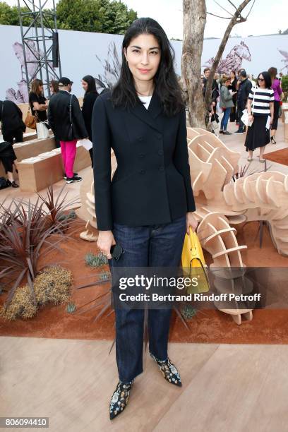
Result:
{"label": "smiling face of the woman posing in the foreground", "polygon": [[124,55],[136,83],[153,79],[161,59],[160,45],[153,35],[134,37]]}

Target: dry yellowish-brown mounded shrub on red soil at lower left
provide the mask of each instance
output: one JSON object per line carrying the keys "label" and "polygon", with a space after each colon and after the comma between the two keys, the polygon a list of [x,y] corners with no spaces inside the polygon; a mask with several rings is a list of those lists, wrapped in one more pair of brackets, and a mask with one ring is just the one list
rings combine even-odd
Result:
{"label": "dry yellowish-brown mounded shrub on red soil at lower left", "polygon": [[17,287],[10,304],[1,307],[0,316],[6,320],[32,318],[45,304],[62,304],[68,301],[71,296],[72,283],[73,277],[70,270],[58,265],[45,268],[33,283],[35,302],[28,284]]}

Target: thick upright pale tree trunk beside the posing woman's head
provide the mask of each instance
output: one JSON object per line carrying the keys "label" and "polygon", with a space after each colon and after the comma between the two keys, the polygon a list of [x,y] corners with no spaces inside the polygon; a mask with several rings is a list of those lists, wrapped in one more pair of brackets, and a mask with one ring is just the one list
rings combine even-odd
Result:
{"label": "thick upright pale tree trunk beside the posing woman's head", "polygon": [[204,129],[206,110],[200,76],[205,24],[205,0],[183,0],[182,85],[186,92],[190,125]]}

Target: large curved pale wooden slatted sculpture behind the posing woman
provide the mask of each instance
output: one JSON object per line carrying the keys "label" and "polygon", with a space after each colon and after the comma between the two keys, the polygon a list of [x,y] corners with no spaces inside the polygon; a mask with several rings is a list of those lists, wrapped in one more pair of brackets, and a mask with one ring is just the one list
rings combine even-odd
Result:
{"label": "large curved pale wooden slatted sculpture behind the posing woman", "polygon": [[[260,172],[235,179],[239,172],[240,153],[230,150],[220,138],[200,128],[187,128],[187,145],[196,200],[195,214],[200,222],[198,236],[203,248],[212,256],[210,268],[245,270],[241,251],[246,246],[239,246],[234,228],[245,221],[267,221],[277,251],[288,256],[288,176],[280,172]],[[112,175],[115,169],[116,157],[112,152]],[[97,240],[94,188],[91,184],[92,176],[90,182],[81,186],[85,208],[82,214],[88,221],[87,230],[81,237]],[[239,280],[227,277],[227,274],[224,271],[218,273],[215,286],[239,291]],[[247,281],[244,285],[246,290],[247,287],[251,289]],[[241,316],[252,319],[251,309],[216,306],[231,314],[238,324]]]}

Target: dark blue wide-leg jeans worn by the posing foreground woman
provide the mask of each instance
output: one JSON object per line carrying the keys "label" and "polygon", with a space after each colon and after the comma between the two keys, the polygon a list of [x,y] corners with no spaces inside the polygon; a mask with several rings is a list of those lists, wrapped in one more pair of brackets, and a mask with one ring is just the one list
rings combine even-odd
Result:
{"label": "dark blue wide-leg jeans worn by the posing foreground woman", "polygon": [[[186,215],[169,224],[126,227],[114,224],[121,258],[109,260],[112,267],[177,267],[186,233]],[[149,350],[157,359],[167,359],[171,318],[169,309],[149,309]],[[119,380],[127,383],[143,372],[143,309],[116,308],[116,361]]]}

